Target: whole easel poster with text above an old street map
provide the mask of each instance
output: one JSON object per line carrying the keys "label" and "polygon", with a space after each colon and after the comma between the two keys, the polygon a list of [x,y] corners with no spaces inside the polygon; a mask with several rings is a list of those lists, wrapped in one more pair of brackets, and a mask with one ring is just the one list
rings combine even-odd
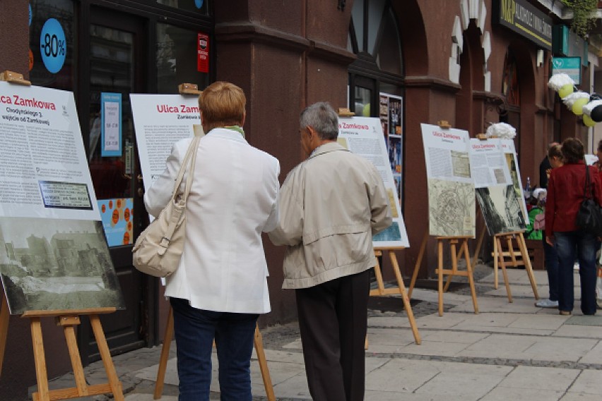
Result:
{"label": "whole easel poster with text above an old street map", "polygon": [[429,200],[429,234],[475,236],[475,185],[468,131],[420,124]]}

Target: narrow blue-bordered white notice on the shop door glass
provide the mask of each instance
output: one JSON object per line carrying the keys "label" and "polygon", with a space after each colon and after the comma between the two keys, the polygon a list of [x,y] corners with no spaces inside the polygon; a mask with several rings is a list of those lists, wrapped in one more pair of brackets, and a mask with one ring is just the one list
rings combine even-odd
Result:
{"label": "narrow blue-bordered white notice on the shop door glass", "polygon": [[100,94],[101,155],[122,155],[122,94]]}

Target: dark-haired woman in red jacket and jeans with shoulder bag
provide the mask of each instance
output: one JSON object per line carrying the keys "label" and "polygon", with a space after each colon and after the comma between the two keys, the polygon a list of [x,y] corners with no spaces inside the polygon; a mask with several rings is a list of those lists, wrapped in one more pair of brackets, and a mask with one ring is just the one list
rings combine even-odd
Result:
{"label": "dark-haired woman in red jacket and jeans with shoulder bag", "polygon": [[[602,205],[602,181],[596,167],[584,162],[581,140],[567,138],[562,142],[565,164],[553,169],[548,181],[545,203],[545,239],[554,245],[560,259],[558,266],[558,309],[570,315],[574,304],[575,257],[579,258],[581,277],[581,310],[584,315],[596,314],[596,247],[598,239],[575,225],[577,210],[584,199],[586,172],[591,181],[591,193]],[[577,252],[577,254],[576,254]]]}

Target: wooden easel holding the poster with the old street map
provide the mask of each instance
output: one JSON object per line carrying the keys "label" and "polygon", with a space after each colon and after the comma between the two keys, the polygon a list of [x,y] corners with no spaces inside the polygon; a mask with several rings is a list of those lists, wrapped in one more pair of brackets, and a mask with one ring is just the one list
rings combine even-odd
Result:
{"label": "wooden easel holding the poster with the old street map", "polygon": [[[414,273],[412,275],[412,280],[410,282],[410,291],[409,294],[411,296],[412,290],[414,289],[414,285],[416,284],[416,278],[418,277],[418,270],[420,270],[420,263],[422,262],[424,251],[426,249],[426,244],[428,241],[428,232],[425,232],[425,236],[423,237],[423,242],[420,244],[420,251],[418,253],[418,259],[416,260],[416,264],[414,266]],[[478,313],[478,304],[476,299],[476,290],[473,279],[473,268],[471,265],[471,257],[468,252],[468,239],[473,238],[469,235],[461,235],[461,236],[453,236],[453,237],[435,237],[437,239],[437,291],[439,292],[439,316],[443,316],[443,293],[447,292],[449,289],[449,285],[451,284],[451,277],[461,276],[468,278],[468,285],[471,287],[471,297],[473,299],[473,307],[475,313]],[[447,269],[443,267],[443,247],[444,242],[449,242],[449,248],[451,253],[451,269]],[[464,256],[466,261],[466,270],[458,269],[458,260]],[[447,282],[443,285],[443,276],[447,276]]]}

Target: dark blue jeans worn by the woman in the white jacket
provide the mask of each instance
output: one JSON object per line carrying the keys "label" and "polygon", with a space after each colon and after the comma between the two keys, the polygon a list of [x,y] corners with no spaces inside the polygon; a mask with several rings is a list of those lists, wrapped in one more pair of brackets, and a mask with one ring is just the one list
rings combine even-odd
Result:
{"label": "dark blue jeans worn by the woman in the white jacket", "polygon": [[251,401],[251,354],[258,314],[203,311],[170,298],[177,347],[179,401],[208,401],[216,340],[220,400]]}

